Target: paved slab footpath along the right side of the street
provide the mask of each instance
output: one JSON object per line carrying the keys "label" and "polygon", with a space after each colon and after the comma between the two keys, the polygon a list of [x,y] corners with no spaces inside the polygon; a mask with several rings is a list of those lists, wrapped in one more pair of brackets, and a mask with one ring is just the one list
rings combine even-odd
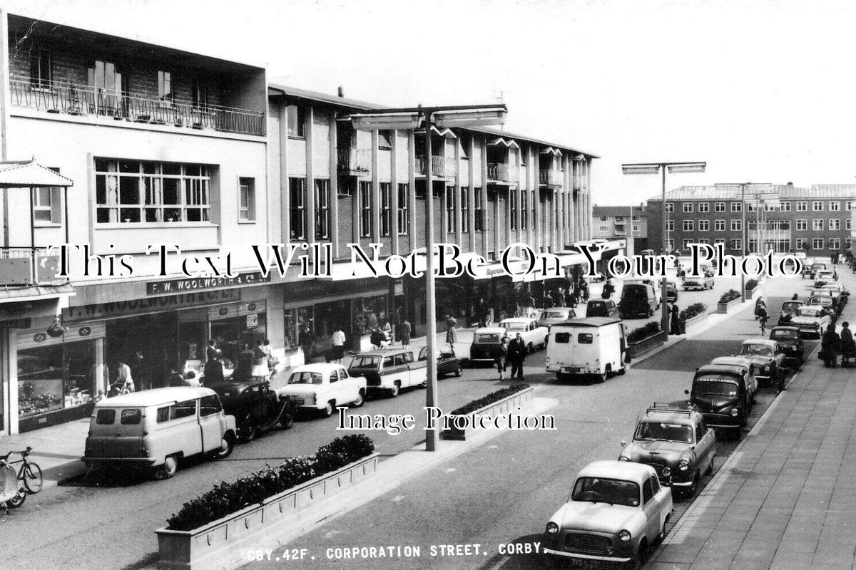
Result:
{"label": "paved slab footpath along the right side of the street", "polygon": [[[840,322],[854,319],[849,303]],[[856,369],[824,368],[815,353],[646,568],[856,568]]]}

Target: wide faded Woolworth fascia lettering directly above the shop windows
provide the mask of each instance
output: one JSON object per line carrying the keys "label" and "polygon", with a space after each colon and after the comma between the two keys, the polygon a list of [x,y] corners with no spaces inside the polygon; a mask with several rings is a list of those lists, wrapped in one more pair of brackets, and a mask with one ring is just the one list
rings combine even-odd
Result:
{"label": "wide faded Woolworth fascia lettering directly above the shop windows", "polygon": [[216,303],[229,303],[241,300],[240,289],[222,289],[217,291],[199,291],[181,295],[146,297],[114,303],[98,303],[62,309],[62,320],[111,319],[132,316],[134,314],[158,313],[198,307]]}

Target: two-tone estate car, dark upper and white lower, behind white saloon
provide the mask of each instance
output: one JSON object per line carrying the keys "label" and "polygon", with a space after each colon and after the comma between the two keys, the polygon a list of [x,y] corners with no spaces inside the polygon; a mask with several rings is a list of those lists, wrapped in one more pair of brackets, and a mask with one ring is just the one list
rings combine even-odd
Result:
{"label": "two-tone estate car, dark upper and white lower, behind white saloon", "polygon": [[404,388],[425,385],[428,368],[426,361],[413,359],[413,350],[378,349],[354,356],[348,373],[365,377],[367,390],[396,397]]}

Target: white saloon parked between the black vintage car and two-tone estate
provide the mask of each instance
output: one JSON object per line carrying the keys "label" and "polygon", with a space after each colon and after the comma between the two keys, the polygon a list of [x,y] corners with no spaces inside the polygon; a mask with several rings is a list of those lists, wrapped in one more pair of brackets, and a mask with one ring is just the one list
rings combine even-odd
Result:
{"label": "white saloon parked between the black vintage car and two-tone estate", "polygon": [[288,384],[276,396],[289,397],[297,409],[330,417],[338,406],[360,408],[366,401],[366,378],[351,376],[335,362],[316,362],[295,367]]}

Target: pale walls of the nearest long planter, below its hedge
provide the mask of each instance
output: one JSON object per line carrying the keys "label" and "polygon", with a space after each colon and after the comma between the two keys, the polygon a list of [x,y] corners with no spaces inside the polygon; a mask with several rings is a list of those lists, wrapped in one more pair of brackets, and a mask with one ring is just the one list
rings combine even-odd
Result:
{"label": "pale walls of the nearest long planter, below its hedge", "polygon": [[246,550],[282,544],[278,536],[298,524],[312,524],[312,510],[340,491],[377,472],[378,455],[368,455],[338,471],[306,481],[193,531],[161,528],[158,570],[229,570],[247,564]]}

